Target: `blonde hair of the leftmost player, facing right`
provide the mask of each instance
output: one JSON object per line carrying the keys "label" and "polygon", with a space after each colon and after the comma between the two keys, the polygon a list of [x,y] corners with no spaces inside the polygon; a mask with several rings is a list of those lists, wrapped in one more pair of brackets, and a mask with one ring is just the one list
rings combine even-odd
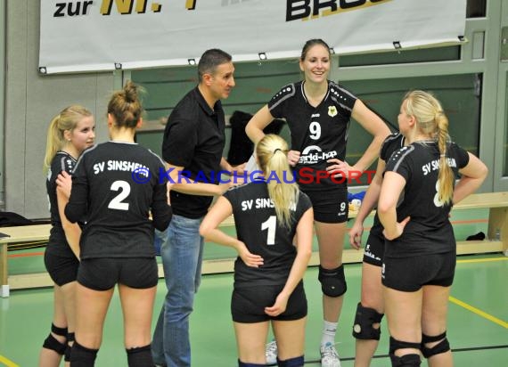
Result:
{"label": "blonde hair of the leftmost player, facing right", "polygon": [[64,132],[66,130],[73,130],[78,126],[78,122],[83,118],[92,116],[92,112],[86,110],[85,107],[78,104],[73,104],[56,115],[49,124],[47,130],[47,140],[45,145],[45,158],[43,169],[45,173],[51,167],[51,161],[53,160],[57,151],[61,151],[65,145]]}

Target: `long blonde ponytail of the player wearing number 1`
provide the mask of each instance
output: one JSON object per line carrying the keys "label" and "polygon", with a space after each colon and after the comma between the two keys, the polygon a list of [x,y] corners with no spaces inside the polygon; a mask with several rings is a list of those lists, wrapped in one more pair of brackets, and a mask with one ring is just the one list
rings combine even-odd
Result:
{"label": "long blonde ponytail of the player wearing number 1", "polygon": [[298,202],[299,188],[288,164],[288,144],[278,135],[268,134],[256,145],[259,168],[265,174],[268,195],[274,202],[279,223],[289,228],[290,207]]}

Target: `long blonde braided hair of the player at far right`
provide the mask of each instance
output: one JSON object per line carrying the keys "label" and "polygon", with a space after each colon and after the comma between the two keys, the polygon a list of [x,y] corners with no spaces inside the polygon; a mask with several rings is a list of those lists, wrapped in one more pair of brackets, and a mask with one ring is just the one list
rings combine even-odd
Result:
{"label": "long blonde braided hair of the player at far right", "polygon": [[448,118],[438,99],[428,92],[411,91],[406,94],[405,112],[416,118],[417,126],[426,135],[431,135],[438,143],[439,175],[438,199],[442,203],[449,203],[454,195],[454,172],[447,160]]}

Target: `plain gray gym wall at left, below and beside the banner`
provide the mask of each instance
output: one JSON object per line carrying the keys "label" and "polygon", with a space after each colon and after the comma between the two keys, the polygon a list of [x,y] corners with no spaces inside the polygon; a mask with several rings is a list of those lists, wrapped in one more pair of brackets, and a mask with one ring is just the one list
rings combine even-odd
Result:
{"label": "plain gray gym wall at left, below and beside the banner", "polygon": [[[4,95],[4,205],[29,218],[47,217],[42,165],[49,122],[78,103],[94,113],[99,141],[107,138],[106,104],[113,74],[38,74],[39,0],[7,0]],[[65,45],[62,45],[63,47]]]}

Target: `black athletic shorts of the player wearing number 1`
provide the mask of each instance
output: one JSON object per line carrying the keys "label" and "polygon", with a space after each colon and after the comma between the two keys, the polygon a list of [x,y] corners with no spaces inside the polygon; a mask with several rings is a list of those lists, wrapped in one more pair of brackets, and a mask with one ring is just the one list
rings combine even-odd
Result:
{"label": "black athletic shorts of the player wearing number 1", "polygon": [[283,314],[272,317],[265,314],[265,307],[274,306],[275,298],[283,285],[235,288],[231,297],[231,314],[234,322],[266,322],[268,320],[291,321],[307,316],[307,298],[303,281],[291,293]]}

